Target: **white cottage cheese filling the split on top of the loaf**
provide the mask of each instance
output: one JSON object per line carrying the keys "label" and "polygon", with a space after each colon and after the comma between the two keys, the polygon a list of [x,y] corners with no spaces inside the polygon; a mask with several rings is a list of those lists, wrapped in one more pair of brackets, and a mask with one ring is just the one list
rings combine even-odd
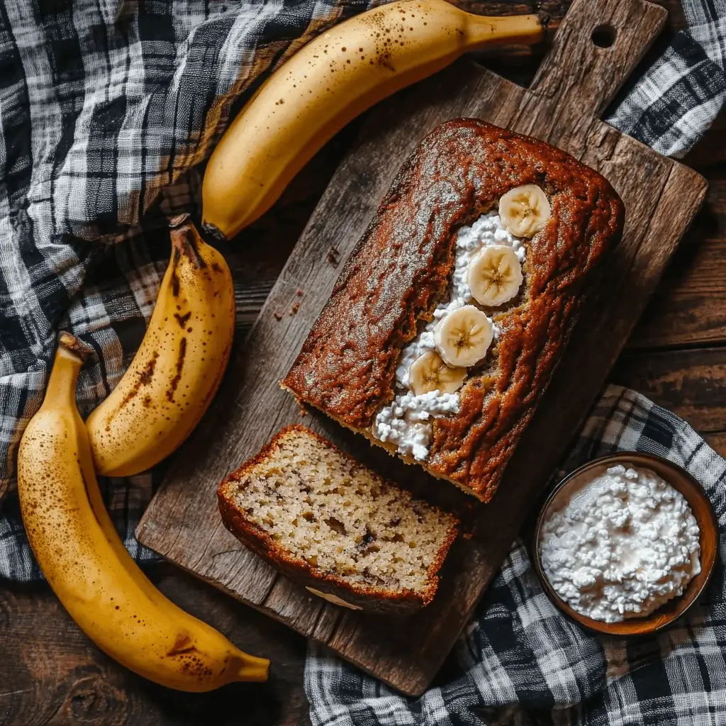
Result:
{"label": "white cottage cheese filling the split on top of the loaf", "polygon": [[[450,312],[473,301],[467,281],[468,265],[481,248],[486,245],[507,245],[511,247],[520,262],[524,261],[525,248],[522,240],[514,237],[502,227],[499,214],[495,211],[479,217],[470,227],[462,227],[457,234],[454,274],[449,299],[433,311],[433,320],[420,331],[403,351],[396,368],[396,396],[391,404],[383,407],[375,417],[373,436],[380,441],[396,444],[399,453],[411,454],[416,460],[428,457],[433,436],[432,420],[459,411],[458,393],[431,391],[415,395],[410,390],[409,368],[425,351],[433,351],[433,329],[439,320]],[[494,324],[494,340],[499,330]]]}

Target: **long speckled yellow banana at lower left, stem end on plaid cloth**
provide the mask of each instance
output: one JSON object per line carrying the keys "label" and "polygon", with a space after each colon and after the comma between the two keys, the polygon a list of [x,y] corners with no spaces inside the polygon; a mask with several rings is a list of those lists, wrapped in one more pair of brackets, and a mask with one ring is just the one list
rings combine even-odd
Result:
{"label": "long speckled yellow banana at lower left, stem end on plaid cloth", "polygon": [[269,661],[167,600],[131,559],[102,502],[76,408],[85,346],[61,333],[41,409],[20,441],[20,507],[30,546],[61,603],[109,656],[168,688],[264,681]]}

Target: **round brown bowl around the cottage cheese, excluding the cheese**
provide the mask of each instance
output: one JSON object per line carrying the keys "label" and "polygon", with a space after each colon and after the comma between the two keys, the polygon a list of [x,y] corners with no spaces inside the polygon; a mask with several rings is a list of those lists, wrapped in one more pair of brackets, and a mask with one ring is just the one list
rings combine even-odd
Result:
{"label": "round brown bowl around the cottage cheese, excluding the cheese", "polygon": [[[658,610],[653,611],[650,615],[643,618],[628,618],[619,623],[603,623],[599,620],[593,620],[587,616],[581,615],[574,611],[560,596],[555,592],[547,575],[542,569],[542,556],[539,550],[539,531],[542,528],[542,522],[547,515],[552,502],[560,496],[566,497],[569,493],[574,492],[594,478],[599,473],[604,472],[609,466],[616,464],[630,464],[635,468],[645,468],[654,471],[658,476],[668,482],[674,489],[677,489],[688,501],[690,510],[698,522],[698,529],[701,531],[701,572],[696,575],[689,583],[679,597],[674,597],[664,603]],[[566,476],[560,484],[555,486],[552,493],[544,502],[544,507],[537,518],[537,526],[534,528],[534,542],[532,544],[532,552],[534,554],[534,566],[542,582],[544,591],[549,595],[555,605],[560,608],[568,617],[590,630],[595,630],[606,635],[646,635],[656,632],[666,627],[675,619],[680,618],[685,611],[696,602],[698,595],[701,595],[706,584],[709,582],[711,573],[714,570],[716,554],[719,546],[719,530],[714,514],[713,507],[709,498],[698,484],[698,481],[690,476],[690,474],[680,468],[677,464],[653,456],[652,454],[637,454],[634,452],[618,452],[610,456],[596,459],[574,470]]]}

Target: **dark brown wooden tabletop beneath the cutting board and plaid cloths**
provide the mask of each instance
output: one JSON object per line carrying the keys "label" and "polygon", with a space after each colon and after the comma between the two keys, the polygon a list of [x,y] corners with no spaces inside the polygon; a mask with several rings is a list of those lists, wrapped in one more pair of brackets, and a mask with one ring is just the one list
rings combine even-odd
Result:
{"label": "dark brown wooden tabletop beneath the cutting board and plaid cloths", "polygon": [[[681,28],[677,0],[664,4],[672,28]],[[490,10],[512,7],[485,5]],[[555,21],[566,7],[559,0],[544,5]],[[492,67],[524,82],[536,62],[536,57],[523,56],[492,61]],[[347,129],[328,144],[274,210],[225,250],[239,285],[242,328],[253,320],[354,133],[354,127]],[[709,180],[706,205],[611,381],[668,407],[726,455],[726,114],[685,162]],[[309,724],[302,637],[172,566],[153,566],[150,574],[182,608],[221,629],[241,648],[271,658],[269,682],[235,684],[204,695],[166,690],[91,645],[44,584],[0,582],[0,724]]]}

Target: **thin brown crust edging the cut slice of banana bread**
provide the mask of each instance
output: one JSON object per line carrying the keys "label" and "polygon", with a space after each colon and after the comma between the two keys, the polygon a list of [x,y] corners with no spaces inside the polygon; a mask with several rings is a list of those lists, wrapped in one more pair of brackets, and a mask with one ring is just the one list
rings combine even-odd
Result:
{"label": "thin brown crust edging the cut slice of banana bread", "polygon": [[[356,605],[356,607],[362,610],[375,613],[405,615],[428,605],[433,600],[433,596],[436,595],[436,590],[439,585],[439,570],[444,564],[449,548],[457,538],[458,530],[456,525],[447,534],[439,548],[436,558],[428,569],[428,587],[425,592],[386,590],[383,587],[376,587],[375,585],[350,584],[337,576],[311,566],[306,560],[296,558],[285,550],[284,547],[281,547],[270,536],[269,532],[264,531],[256,526],[256,523],[250,521],[245,516],[245,513],[240,511],[234,504],[234,486],[237,482],[252,473],[258,464],[264,462],[290,433],[305,433],[306,436],[316,439],[325,448],[350,460],[351,464],[360,466],[349,454],[340,451],[337,446],[327,441],[323,436],[319,436],[314,431],[310,431],[305,426],[293,425],[282,428],[281,431],[275,434],[272,441],[266,444],[258,454],[248,459],[239,469],[227,476],[219,485],[217,499],[224,526],[242,544],[245,544],[250,550],[269,562],[272,566],[284,572],[293,581],[303,584],[306,587],[314,587],[314,589],[320,592],[336,595],[347,603]],[[388,486],[396,486],[390,481],[383,479],[380,481]]]}

